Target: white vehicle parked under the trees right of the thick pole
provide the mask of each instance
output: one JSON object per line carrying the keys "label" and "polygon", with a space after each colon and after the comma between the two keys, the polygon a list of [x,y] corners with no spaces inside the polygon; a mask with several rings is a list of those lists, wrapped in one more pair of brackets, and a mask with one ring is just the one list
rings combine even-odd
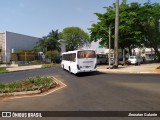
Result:
{"label": "white vehicle parked under the trees right of the thick pole", "polygon": [[143,58],[140,56],[130,56],[128,60],[131,62],[131,64],[134,65],[139,65],[143,63]]}

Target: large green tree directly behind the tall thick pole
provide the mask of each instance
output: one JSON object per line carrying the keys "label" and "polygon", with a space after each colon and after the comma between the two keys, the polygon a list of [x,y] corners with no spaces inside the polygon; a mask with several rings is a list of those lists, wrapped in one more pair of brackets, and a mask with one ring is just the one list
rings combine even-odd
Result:
{"label": "large green tree directly behind the tall thick pole", "polygon": [[[140,46],[140,34],[141,31],[137,28],[138,18],[137,11],[139,10],[140,4],[131,3],[126,4],[126,0],[124,0],[120,4],[120,12],[119,12],[119,48],[124,49],[128,48],[131,54],[132,46]],[[104,46],[108,46],[108,28],[112,28],[112,40],[115,38],[114,26],[115,26],[115,4],[113,6],[104,7],[106,12],[104,14],[95,13],[98,17],[99,22],[93,24],[91,28],[89,28],[91,32],[91,41],[97,41],[101,39],[101,44]],[[105,29],[105,30],[104,30]],[[112,48],[114,46],[114,41],[112,43]]]}

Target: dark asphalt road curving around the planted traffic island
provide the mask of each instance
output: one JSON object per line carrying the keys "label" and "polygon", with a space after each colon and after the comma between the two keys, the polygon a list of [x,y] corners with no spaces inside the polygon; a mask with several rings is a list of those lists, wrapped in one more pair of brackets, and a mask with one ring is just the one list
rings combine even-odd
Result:
{"label": "dark asphalt road curving around the planted traffic island", "polygon": [[[44,97],[0,100],[0,111],[160,111],[160,75],[94,72],[76,76],[56,67],[3,73],[0,74],[0,82],[11,82],[36,75],[55,76],[67,86]],[[59,119],[75,120],[75,118],[56,118]],[[82,118],[76,119],[82,120]],[[134,118],[118,120],[120,119],[134,120]],[[157,118],[136,118],[136,120],[142,119]]]}

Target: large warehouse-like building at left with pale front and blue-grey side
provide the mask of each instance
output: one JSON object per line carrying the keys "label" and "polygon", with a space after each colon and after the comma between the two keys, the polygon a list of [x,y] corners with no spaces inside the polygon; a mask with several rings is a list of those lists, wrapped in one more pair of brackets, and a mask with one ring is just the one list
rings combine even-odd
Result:
{"label": "large warehouse-like building at left with pale front and blue-grey side", "polygon": [[13,32],[0,33],[0,61],[9,63],[10,53],[18,50],[32,50],[39,38]]}

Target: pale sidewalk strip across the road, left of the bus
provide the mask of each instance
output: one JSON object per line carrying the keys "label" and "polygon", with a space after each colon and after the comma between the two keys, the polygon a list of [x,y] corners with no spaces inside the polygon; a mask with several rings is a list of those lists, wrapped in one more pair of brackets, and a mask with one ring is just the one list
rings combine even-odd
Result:
{"label": "pale sidewalk strip across the road, left of the bus", "polygon": [[10,66],[7,68],[9,72],[13,71],[22,71],[22,70],[31,70],[41,68],[42,65],[29,65],[29,66]]}

